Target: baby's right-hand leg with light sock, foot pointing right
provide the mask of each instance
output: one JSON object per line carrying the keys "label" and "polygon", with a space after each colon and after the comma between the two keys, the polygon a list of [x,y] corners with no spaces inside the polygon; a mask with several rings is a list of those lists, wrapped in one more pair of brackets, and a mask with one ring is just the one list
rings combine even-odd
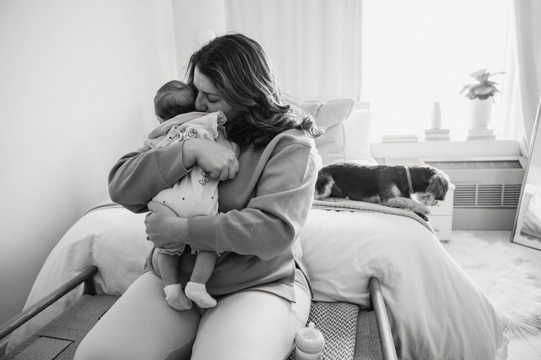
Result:
{"label": "baby's right-hand leg with light sock, foot pointing right", "polygon": [[186,284],[186,296],[201,308],[216,306],[216,300],[207,292],[205,284],[214,271],[216,258],[215,251],[199,251],[195,259],[194,270],[188,284]]}

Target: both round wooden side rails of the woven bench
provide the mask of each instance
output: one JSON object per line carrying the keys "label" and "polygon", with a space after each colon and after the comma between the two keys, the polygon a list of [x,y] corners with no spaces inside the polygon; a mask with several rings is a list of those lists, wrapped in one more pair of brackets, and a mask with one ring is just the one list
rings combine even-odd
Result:
{"label": "both round wooden side rails of the woven bench", "polygon": [[[91,296],[96,295],[93,276],[97,273],[97,271],[97,266],[89,266],[79,275],[70,279],[70,281],[64,283],[58,289],[43,297],[40,301],[30,306],[30,308],[24,310],[21,312],[21,314],[6,322],[0,328],[0,340],[11,334],[12,331],[29,321],[32,317],[39,314],[39,312],[43,311],[49,305],[68,294],[69,291],[75,289],[82,283],[84,283],[85,294]],[[397,360],[397,353],[394,348],[391,326],[389,325],[387,311],[385,309],[385,301],[381,293],[379,279],[377,277],[372,277],[369,281],[369,286],[375,313],[375,321],[378,328],[382,358],[384,360]]]}

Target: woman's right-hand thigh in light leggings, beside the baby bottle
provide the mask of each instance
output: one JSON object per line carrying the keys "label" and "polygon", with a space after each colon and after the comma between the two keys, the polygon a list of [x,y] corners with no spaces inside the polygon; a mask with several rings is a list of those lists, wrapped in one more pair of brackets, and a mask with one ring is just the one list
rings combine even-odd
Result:
{"label": "woman's right-hand thigh in light leggings, beside the baby bottle", "polygon": [[291,303],[267,292],[246,291],[223,299],[203,314],[192,358],[287,358],[296,332],[308,319],[306,282],[295,282],[295,297]]}

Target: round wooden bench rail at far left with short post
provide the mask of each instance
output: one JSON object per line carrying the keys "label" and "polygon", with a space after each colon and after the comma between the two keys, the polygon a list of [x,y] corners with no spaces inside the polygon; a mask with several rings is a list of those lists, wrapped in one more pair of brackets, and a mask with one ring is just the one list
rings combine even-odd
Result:
{"label": "round wooden bench rail at far left with short post", "polygon": [[93,276],[96,274],[96,272],[98,272],[97,266],[88,266],[88,268],[84,269],[79,275],[64,283],[55,291],[52,291],[49,295],[43,297],[40,301],[30,306],[30,308],[21,312],[21,314],[16,315],[14,318],[2,325],[0,328],[0,339],[3,339],[11,334],[12,331],[29,321],[32,317],[36,316],[39,314],[39,312],[47,308],[47,306],[60,299],[62,296],[68,294],[68,292],[75,289],[82,283],[84,283],[85,292],[87,292],[89,295],[94,295],[96,292],[94,289]]}

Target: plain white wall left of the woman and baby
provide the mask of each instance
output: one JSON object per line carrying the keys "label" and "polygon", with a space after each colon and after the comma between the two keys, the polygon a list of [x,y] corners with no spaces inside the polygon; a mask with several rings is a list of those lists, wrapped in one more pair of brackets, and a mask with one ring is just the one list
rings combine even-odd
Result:
{"label": "plain white wall left of the woman and baby", "polygon": [[171,2],[2,0],[0,49],[2,324],[156,123],[154,94],[177,77]]}

